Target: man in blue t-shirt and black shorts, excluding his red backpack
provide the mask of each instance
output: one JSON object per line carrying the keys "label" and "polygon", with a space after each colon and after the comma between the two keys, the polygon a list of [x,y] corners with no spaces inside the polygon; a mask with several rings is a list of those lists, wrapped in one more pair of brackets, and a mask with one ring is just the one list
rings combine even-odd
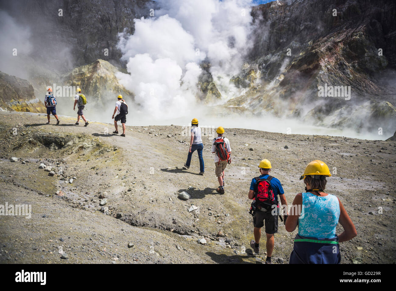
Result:
{"label": "man in blue t-shirt and black shorts, excluding his red backpack", "polygon": [[[264,159],[259,164],[260,176],[253,178],[250,183],[249,189],[249,199],[255,199],[255,194],[257,191],[256,184],[260,179],[267,179],[270,181],[271,189],[274,193],[275,204],[278,204],[278,195],[281,201],[281,206],[278,206],[279,212],[283,209],[287,211],[287,202],[285,197],[285,192],[283,191],[282,184],[280,181],[272,176],[269,176],[271,172],[271,163],[267,159]],[[256,205],[257,206],[257,205]],[[286,207],[286,208],[285,208]],[[260,238],[261,238],[261,228],[265,225],[265,234],[267,234],[267,259],[266,264],[271,264],[271,255],[274,250],[274,234],[278,232],[278,215],[279,212],[273,213],[272,209],[266,210],[264,207],[261,209],[256,208],[253,214],[253,225],[254,225],[254,239],[250,242],[251,248],[255,253],[260,251]],[[287,213],[287,212],[286,212]],[[274,215],[275,214],[275,215]],[[287,215],[284,215],[286,217]],[[265,222],[265,223],[264,223]]]}

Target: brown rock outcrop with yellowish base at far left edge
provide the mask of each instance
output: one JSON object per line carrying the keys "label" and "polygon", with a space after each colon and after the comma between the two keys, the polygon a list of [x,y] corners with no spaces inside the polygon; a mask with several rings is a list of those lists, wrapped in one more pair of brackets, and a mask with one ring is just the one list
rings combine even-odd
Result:
{"label": "brown rock outcrop with yellowish base at far left edge", "polygon": [[46,112],[44,103],[34,96],[27,80],[3,72],[0,72],[0,110]]}

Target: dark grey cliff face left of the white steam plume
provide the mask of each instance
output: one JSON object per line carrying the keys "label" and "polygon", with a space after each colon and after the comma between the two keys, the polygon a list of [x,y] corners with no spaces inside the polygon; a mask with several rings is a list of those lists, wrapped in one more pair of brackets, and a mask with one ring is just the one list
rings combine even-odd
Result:
{"label": "dark grey cliff face left of the white steam plume", "polygon": [[148,17],[155,6],[151,0],[15,0],[0,9],[29,27],[32,55],[65,72],[97,59],[119,63],[117,34],[133,33],[133,19]]}

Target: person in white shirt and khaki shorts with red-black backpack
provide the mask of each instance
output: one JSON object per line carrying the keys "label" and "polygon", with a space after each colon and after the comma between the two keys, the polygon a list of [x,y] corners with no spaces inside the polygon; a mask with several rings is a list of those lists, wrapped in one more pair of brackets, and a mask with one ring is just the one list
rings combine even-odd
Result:
{"label": "person in white shirt and khaki shorts with red-black backpack", "polygon": [[223,136],[224,128],[219,126],[216,132],[217,138],[213,138],[212,141],[212,153],[215,153],[215,174],[219,181],[219,188],[216,189],[216,192],[224,194],[224,170],[227,163],[231,163],[231,147],[228,138]]}

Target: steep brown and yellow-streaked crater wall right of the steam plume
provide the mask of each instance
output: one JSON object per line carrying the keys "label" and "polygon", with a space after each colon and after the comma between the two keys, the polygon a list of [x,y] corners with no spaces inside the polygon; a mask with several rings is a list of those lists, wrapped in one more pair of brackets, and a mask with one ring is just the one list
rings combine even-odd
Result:
{"label": "steep brown and yellow-streaked crater wall right of the steam plume", "polygon": [[[252,15],[254,47],[233,80],[253,90],[229,107],[394,131],[394,1],[276,1],[253,7]],[[325,84],[350,86],[350,96],[318,96]]]}

